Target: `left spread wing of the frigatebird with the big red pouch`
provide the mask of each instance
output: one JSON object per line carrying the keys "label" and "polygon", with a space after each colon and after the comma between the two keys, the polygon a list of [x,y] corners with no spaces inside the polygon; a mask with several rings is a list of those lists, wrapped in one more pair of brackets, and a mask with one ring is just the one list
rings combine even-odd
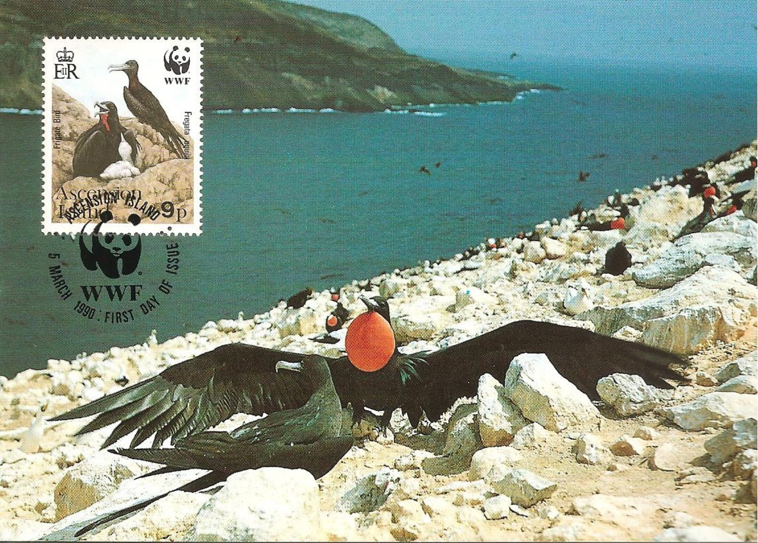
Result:
{"label": "left spread wing of the frigatebird with the big red pouch", "polygon": [[103,448],[134,430],[130,447],[153,434],[152,446],[158,447],[167,438],[173,443],[234,413],[301,407],[313,392],[308,380],[293,371],[277,373],[275,366],[279,360],[298,362],[303,356],[241,343],[222,345],[52,420],[97,415],[77,435],[120,422]]}

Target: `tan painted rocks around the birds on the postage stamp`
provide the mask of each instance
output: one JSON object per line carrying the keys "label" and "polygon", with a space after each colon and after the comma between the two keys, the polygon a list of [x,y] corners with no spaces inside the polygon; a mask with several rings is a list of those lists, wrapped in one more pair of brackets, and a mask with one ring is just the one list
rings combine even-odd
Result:
{"label": "tan painted rocks around the birds on the postage stamp", "polygon": [[[159,206],[162,201],[174,202],[175,208],[184,208],[187,211],[186,222],[193,220],[193,184],[194,163],[193,160],[182,160],[168,151],[163,142],[163,136],[158,134],[150,126],[140,123],[130,117],[128,110],[119,111],[118,117],[121,124],[132,130],[142,151],[137,154],[136,164],[139,175],[126,176],[120,179],[101,179],[99,177],[74,177],[72,160],[77,139],[90,126],[97,123],[97,118],[92,116],[92,111],[81,104],[80,101],[67,95],[57,86],[52,87],[52,109],[60,111],[60,123],[55,126],[61,128],[61,148],[53,152],[52,161],[52,194],[56,208],[53,210],[58,217],[57,204],[63,204],[68,208],[74,204],[74,194],[80,190],[87,191],[104,190],[108,192],[139,191],[142,201],[150,202]],[[177,125],[174,125],[177,126]],[[177,130],[183,133],[180,126]],[[189,139],[189,136],[187,136]],[[195,142],[189,139],[190,154],[194,156]],[[61,191],[64,195],[61,195]],[[114,208],[114,219],[125,223],[129,214],[128,209]],[[120,216],[123,215],[122,216]],[[175,217],[158,217],[155,222],[161,223],[175,221]]]}

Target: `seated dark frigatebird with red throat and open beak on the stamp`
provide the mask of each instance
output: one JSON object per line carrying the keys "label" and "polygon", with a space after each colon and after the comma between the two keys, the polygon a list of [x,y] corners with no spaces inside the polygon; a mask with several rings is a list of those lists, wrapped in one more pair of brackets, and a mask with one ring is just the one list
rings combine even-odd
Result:
{"label": "seated dark frigatebird with red throat and open beak on the stamp", "polygon": [[99,101],[95,106],[98,123],[85,130],[74,147],[74,176],[99,176],[105,168],[122,159],[134,164],[141,148],[134,133],[121,125],[112,101]]}

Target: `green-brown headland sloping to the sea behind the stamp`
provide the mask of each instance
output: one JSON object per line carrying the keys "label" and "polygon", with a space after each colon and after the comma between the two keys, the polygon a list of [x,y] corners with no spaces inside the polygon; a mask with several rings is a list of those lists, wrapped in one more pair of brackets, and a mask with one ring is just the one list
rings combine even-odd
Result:
{"label": "green-brown headland sloping to the sea behind the stamp", "polygon": [[381,111],[557,89],[409,55],[361,17],[279,0],[137,0],[107,9],[11,0],[0,8],[0,36],[0,106],[9,108],[40,108],[43,36],[198,36],[205,40],[203,107],[211,110]]}

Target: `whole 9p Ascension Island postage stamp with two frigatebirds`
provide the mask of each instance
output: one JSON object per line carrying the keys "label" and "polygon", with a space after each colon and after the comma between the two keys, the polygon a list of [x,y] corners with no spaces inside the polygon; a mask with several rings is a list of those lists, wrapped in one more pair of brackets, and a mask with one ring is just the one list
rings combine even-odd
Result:
{"label": "whole 9p Ascension Island postage stamp with two frigatebirds", "polygon": [[45,38],[43,61],[42,232],[199,234],[202,40]]}

